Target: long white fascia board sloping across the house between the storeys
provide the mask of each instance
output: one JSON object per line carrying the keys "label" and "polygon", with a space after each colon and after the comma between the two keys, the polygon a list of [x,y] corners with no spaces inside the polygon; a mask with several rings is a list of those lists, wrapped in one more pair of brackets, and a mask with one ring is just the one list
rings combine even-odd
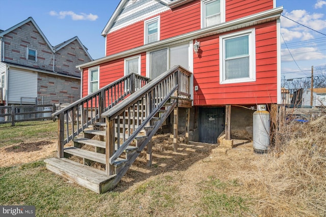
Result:
{"label": "long white fascia board sloping across the house between the storeys", "polygon": [[283,11],[283,6],[274,8],[274,9],[270,9],[270,10],[267,10],[264,12],[260,12],[257,14],[247,16],[247,17],[242,17],[242,18],[232,20],[229,22],[224,22],[224,23],[220,23],[218,25],[213,25],[213,26],[209,26],[206,28],[202,28],[202,29],[196,30],[191,33],[186,33],[186,34],[168,38],[168,39],[165,39],[162,41],[157,41],[157,42],[153,42],[150,44],[146,44],[141,47],[126,50],[126,51],[123,51],[120,53],[112,54],[110,56],[105,56],[105,57],[90,61],[89,63],[78,65],[78,66],[76,66],[76,68],[83,69],[83,68],[95,66],[98,64],[106,63],[107,61],[112,61],[115,59],[123,58],[123,57],[129,56],[129,55],[136,55],[136,54],[139,54],[141,52],[146,52],[151,49],[159,49],[159,48],[163,48],[168,45],[173,45],[173,44],[177,44],[180,42],[195,40],[195,39],[212,36],[212,35],[218,35],[221,33],[229,32],[231,30],[249,27],[249,26],[253,26],[256,24],[269,22],[272,20],[277,20],[280,18],[282,11]]}

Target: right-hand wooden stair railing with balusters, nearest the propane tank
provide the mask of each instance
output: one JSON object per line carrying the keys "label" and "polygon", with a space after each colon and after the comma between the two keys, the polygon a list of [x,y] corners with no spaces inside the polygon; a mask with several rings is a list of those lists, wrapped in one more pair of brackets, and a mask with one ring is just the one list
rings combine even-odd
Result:
{"label": "right-hand wooden stair railing with balusters, nearest the propane tank", "polygon": [[[191,72],[180,66],[174,66],[146,84],[142,89],[134,92],[128,99],[101,115],[106,118],[105,154],[106,173],[108,175],[114,174],[113,164],[115,160],[121,157],[123,151],[134,139],[143,136],[144,140],[147,141],[143,142],[141,147],[139,146],[139,151],[145,147],[160,126],[153,129],[153,133],[148,137],[141,135],[141,132],[146,126],[152,125],[150,121],[154,115],[166,106],[166,102],[172,96],[190,100],[191,76]],[[177,105],[176,100],[171,105],[175,107]],[[169,112],[171,111],[170,108]],[[117,146],[117,150],[115,150],[115,146]]]}

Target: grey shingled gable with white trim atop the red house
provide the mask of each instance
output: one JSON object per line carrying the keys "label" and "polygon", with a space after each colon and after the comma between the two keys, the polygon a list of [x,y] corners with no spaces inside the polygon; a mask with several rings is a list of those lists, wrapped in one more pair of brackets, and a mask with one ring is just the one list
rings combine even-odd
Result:
{"label": "grey shingled gable with white trim atop the red house", "polygon": [[121,0],[102,36],[193,0]]}

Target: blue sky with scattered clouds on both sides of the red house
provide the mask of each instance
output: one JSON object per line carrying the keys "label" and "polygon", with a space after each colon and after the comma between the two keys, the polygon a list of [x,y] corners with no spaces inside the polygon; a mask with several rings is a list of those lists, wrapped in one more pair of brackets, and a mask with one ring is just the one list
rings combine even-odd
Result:
{"label": "blue sky with scattered clouds on both sides of the red house", "polygon": [[[51,45],[78,36],[91,56],[97,59],[104,56],[104,38],[101,32],[119,2],[120,0],[0,0],[0,29],[6,30],[33,17]],[[326,0],[277,0],[278,6],[284,6],[284,16],[324,34],[281,17],[282,73],[286,78],[298,78],[309,76],[311,66],[315,69],[324,68]]]}

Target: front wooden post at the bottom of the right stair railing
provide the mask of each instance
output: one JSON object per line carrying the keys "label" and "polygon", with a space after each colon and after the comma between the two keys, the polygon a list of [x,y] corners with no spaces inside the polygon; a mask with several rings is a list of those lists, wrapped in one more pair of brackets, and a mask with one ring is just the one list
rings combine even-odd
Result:
{"label": "front wooden post at the bottom of the right stair railing", "polygon": [[114,146],[115,146],[114,130],[115,130],[114,119],[108,120],[108,118],[106,118],[105,171],[107,175],[113,175],[114,173],[114,166],[109,162],[111,156],[114,154]]}

